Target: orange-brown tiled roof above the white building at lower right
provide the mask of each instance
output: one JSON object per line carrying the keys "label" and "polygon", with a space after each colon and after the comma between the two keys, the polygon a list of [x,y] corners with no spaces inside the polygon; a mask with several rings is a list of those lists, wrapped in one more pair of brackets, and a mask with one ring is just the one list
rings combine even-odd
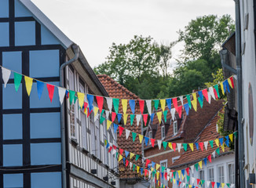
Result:
{"label": "orange-brown tiled roof above the white building at lower right", "polygon": [[[222,109],[220,110],[222,112]],[[210,120],[210,122],[203,128],[203,131],[199,133],[199,136],[196,136],[196,142],[204,142],[209,141],[213,139],[218,139],[220,135],[217,132],[216,124],[220,117],[218,116],[218,113],[214,115],[214,117]],[[211,148],[210,143],[208,143],[207,150],[203,148],[203,151],[199,148],[199,150],[196,150],[196,146],[194,144],[194,151],[190,150],[188,146],[188,151],[181,154],[181,157],[174,162],[173,165],[170,166],[172,169],[178,169],[184,166],[190,166],[192,164],[195,164],[196,162],[202,160],[203,158],[207,157],[211,153],[216,150],[218,146],[214,143],[214,147]],[[221,154],[230,154],[230,150],[228,148],[225,148],[225,152],[221,150],[220,147],[220,153]],[[217,156],[218,154],[216,154]]]}

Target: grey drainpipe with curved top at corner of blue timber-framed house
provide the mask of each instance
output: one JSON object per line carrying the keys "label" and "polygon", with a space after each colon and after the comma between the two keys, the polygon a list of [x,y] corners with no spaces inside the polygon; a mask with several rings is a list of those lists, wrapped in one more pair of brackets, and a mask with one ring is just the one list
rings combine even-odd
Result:
{"label": "grey drainpipe with curved top at corner of blue timber-framed house", "polygon": [[[75,50],[75,56],[71,59],[68,60],[67,62],[63,63],[60,66],[60,86],[64,87],[64,67],[67,65],[75,62],[76,60],[79,59],[79,46],[78,45],[73,45],[73,49]],[[60,132],[61,132],[61,163],[62,163],[62,187],[67,188],[67,160],[66,160],[66,142],[65,142],[65,114],[64,114],[64,103],[62,103],[60,107]]]}

